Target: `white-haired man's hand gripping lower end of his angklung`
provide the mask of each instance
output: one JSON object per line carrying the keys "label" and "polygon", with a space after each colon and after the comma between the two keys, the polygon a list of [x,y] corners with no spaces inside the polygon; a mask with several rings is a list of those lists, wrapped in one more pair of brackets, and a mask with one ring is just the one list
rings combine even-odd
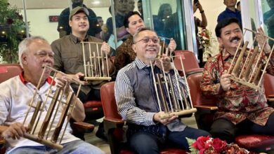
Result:
{"label": "white-haired man's hand gripping lower end of his angklung", "polygon": [[2,132],[1,136],[4,137],[4,139],[20,139],[20,137],[23,137],[26,132],[27,127],[24,127],[22,123],[13,123]]}

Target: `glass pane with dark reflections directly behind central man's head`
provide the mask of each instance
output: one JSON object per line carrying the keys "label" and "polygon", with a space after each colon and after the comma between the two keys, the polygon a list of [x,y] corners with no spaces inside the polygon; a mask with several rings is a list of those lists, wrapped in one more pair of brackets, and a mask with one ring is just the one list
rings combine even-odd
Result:
{"label": "glass pane with dark reflections directly behind central man's head", "polygon": [[[145,25],[158,36],[174,38],[177,50],[186,50],[183,5],[178,0],[143,1]],[[150,6],[150,7],[149,7]],[[165,40],[169,43],[169,40]]]}

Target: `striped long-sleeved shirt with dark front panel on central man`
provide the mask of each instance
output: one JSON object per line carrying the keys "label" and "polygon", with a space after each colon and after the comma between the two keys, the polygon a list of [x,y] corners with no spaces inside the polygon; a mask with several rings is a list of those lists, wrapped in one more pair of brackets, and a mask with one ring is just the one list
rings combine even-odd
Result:
{"label": "striped long-sleeved shirt with dark front panel on central man", "polygon": [[[153,71],[161,70],[154,66]],[[176,77],[173,74],[171,78],[175,80]],[[153,83],[151,67],[138,58],[118,72],[115,82],[115,99],[118,113],[123,120],[136,125],[155,125],[153,116],[159,112],[159,106]],[[178,83],[185,90],[185,81],[180,76],[178,76]],[[178,88],[174,89],[178,95]],[[169,125],[167,127],[171,131],[183,131],[185,128],[180,120],[174,120],[174,123]]]}

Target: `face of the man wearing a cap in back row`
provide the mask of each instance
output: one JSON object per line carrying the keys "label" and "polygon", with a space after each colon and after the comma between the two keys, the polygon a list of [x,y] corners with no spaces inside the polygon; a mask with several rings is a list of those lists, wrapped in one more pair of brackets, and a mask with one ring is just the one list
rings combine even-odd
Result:
{"label": "face of the man wearing a cap in back row", "polygon": [[89,19],[84,12],[73,15],[69,24],[72,34],[85,34],[89,30]]}

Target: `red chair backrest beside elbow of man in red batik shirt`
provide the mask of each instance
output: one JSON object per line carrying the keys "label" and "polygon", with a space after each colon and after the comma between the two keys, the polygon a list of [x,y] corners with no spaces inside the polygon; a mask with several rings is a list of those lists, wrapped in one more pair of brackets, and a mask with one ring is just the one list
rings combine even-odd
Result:
{"label": "red chair backrest beside elbow of man in red batik shirt", "polygon": [[191,94],[193,106],[195,105],[216,106],[216,99],[206,98],[202,96],[202,92],[200,90],[202,73],[193,73],[190,76],[188,76],[187,80],[188,80],[188,85],[190,87],[190,94]]}

